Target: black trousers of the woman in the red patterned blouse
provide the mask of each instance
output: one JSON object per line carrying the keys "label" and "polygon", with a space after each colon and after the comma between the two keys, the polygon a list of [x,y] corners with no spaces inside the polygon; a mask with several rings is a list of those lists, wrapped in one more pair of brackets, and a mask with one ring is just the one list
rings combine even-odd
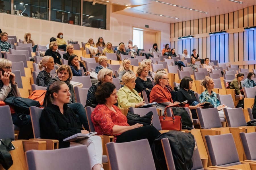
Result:
{"label": "black trousers of the woman in the red patterned blouse", "polygon": [[140,139],[148,139],[150,148],[153,145],[154,140],[160,135],[161,133],[154,127],[154,126],[142,126],[136,129],[132,129],[122,133],[121,135],[116,136],[116,142],[131,142],[137,141]]}

